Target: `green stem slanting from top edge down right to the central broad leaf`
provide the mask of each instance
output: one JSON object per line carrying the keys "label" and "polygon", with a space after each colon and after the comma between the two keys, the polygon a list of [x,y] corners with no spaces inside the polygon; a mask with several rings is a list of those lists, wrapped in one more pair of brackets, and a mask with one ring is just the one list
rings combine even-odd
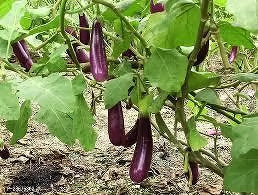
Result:
{"label": "green stem slanting from top edge down right to the central broad leaf", "polygon": [[105,0],[92,0],[94,3],[99,3],[109,7],[125,24],[126,26],[133,32],[133,34],[140,40],[141,44],[147,48],[147,42],[141,37],[141,35],[137,32],[137,30],[130,24],[130,22],[125,18],[125,16],[113,5]]}

